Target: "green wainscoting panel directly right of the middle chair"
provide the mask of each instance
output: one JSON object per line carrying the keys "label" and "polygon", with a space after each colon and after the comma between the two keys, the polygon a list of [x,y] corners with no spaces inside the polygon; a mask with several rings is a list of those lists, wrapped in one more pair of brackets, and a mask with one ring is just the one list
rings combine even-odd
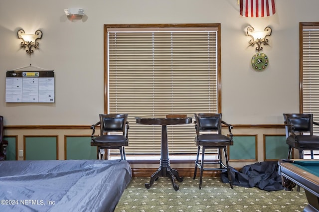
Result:
{"label": "green wainscoting panel directly right of the middle chair", "polygon": [[229,161],[257,161],[257,135],[234,135]]}

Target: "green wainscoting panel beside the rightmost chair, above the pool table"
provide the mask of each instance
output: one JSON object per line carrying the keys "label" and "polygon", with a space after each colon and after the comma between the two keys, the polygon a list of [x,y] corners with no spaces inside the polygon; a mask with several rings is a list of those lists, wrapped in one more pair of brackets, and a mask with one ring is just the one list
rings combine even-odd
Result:
{"label": "green wainscoting panel beside the rightmost chair, above the pool table", "polygon": [[286,159],[288,145],[286,135],[264,135],[264,160]]}

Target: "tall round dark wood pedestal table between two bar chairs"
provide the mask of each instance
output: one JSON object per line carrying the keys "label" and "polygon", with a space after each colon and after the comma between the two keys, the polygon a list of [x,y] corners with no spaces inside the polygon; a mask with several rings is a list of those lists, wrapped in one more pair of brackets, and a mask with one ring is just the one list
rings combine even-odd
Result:
{"label": "tall round dark wood pedestal table between two bar chairs", "polygon": [[178,191],[178,185],[175,183],[175,178],[178,182],[184,180],[183,177],[179,177],[177,170],[172,169],[169,164],[168,158],[168,143],[167,143],[167,125],[177,124],[189,124],[192,123],[192,116],[140,116],[135,117],[136,123],[146,125],[161,125],[161,148],[160,148],[160,167],[151,176],[150,183],[145,184],[145,188],[149,189],[153,185],[154,181],[159,177],[168,177],[171,180],[173,188]]}

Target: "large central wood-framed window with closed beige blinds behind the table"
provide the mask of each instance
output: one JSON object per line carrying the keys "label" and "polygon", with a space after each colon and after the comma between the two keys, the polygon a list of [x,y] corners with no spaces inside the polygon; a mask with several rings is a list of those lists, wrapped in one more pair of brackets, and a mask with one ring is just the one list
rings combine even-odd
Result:
{"label": "large central wood-framed window with closed beige blinds behind the table", "polygon": [[[105,25],[106,111],[129,114],[127,155],[160,154],[161,127],[136,116],[218,111],[219,28]],[[170,155],[196,153],[193,124],[168,125],[167,135]]]}

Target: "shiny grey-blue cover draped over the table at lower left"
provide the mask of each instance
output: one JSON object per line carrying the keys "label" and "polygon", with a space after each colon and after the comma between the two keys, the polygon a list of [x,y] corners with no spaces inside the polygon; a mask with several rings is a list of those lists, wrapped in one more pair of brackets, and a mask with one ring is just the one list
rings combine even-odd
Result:
{"label": "shiny grey-blue cover draped over the table at lower left", "polygon": [[124,160],[0,161],[0,212],[112,212],[131,177]]}

